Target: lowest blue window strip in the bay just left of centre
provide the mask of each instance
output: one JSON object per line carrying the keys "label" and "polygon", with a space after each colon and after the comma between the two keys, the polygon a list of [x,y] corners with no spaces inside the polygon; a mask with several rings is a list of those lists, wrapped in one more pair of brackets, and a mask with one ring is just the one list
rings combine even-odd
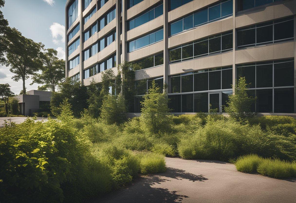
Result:
{"label": "lowest blue window strip in the bay just left of centre", "polygon": [[146,36],[128,42],[128,52],[151,45],[163,40],[163,29],[149,33]]}

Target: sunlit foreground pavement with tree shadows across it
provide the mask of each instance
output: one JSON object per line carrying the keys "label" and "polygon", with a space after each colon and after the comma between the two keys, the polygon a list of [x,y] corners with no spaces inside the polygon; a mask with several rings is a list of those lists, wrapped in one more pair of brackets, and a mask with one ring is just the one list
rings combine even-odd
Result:
{"label": "sunlit foreground pavement with tree shadows across it", "polygon": [[166,158],[167,172],[140,177],[90,203],[294,203],[296,179],[238,172],[221,161]]}

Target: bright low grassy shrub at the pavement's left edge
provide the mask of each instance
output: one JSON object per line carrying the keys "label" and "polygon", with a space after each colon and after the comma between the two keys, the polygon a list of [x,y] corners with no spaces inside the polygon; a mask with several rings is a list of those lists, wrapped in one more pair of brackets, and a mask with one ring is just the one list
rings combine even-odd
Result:
{"label": "bright low grassy shrub at the pavement's left edge", "polygon": [[160,173],[166,171],[164,156],[155,153],[143,153],[140,157],[141,174]]}

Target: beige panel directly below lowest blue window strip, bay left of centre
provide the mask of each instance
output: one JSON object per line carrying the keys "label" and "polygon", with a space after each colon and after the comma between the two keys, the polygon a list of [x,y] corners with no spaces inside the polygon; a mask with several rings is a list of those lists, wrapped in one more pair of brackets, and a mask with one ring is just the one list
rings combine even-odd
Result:
{"label": "beige panel directly below lowest blue window strip, bay left of centre", "polygon": [[135,61],[161,51],[163,51],[163,41],[127,53],[127,61]]}

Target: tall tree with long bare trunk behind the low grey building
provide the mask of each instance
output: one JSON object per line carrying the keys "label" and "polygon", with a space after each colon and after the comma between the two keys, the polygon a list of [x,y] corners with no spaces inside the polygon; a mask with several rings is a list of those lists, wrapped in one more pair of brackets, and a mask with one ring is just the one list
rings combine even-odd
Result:
{"label": "tall tree with long bare trunk behind the low grey building", "polygon": [[22,80],[23,93],[26,93],[25,80],[39,71],[42,66],[42,52],[44,45],[28,39],[15,28],[8,28],[7,34],[7,62],[10,72],[15,75],[13,80]]}

